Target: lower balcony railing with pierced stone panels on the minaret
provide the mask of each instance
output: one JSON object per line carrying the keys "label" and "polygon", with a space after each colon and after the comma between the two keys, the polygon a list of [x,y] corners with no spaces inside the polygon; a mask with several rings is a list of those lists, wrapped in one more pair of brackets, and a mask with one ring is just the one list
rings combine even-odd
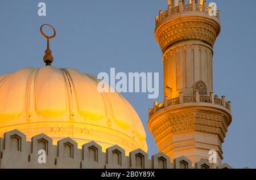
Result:
{"label": "lower balcony railing with pierced stone panels on the minaret", "polygon": [[149,116],[153,115],[161,109],[167,108],[168,106],[174,106],[191,102],[216,104],[223,106],[224,108],[231,111],[231,102],[226,102],[225,100],[225,96],[222,96],[221,98],[214,97],[213,92],[210,93],[210,96],[199,95],[199,91],[196,91],[196,95],[191,96],[183,96],[182,93],[180,93],[179,97],[171,98],[170,100],[168,100],[168,98],[165,97],[164,101],[160,102],[159,104],[157,102],[154,102],[154,108],[150,109]]}

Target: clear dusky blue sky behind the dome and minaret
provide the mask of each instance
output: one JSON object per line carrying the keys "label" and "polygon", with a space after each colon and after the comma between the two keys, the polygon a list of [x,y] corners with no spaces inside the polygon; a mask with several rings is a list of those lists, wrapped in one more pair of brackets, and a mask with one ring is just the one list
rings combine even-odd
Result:
{"label": "clear dusky blue sky behind the dome and minaret", "polygon": [[[45,2],[47,16],[38,16]],[[212,1],[208,1],[212,2]],[[214,92],[232,101],[233,122],[223,144],[224,161],[235,168],[256,168],[256,23],[254,0],[215,0],[221,11],[221,34],[214,46]],[[40,25],[52,24],[51,49],[57,67],[96,75],[109,72],[159,72],[163,100],[162,52],[154,38],[155,15],[167,0],[0,0],[0,74],[44,66],[46,39]],[[147,130],[147,93],[124,93],[142,119],[148,153],[157,153]]]}

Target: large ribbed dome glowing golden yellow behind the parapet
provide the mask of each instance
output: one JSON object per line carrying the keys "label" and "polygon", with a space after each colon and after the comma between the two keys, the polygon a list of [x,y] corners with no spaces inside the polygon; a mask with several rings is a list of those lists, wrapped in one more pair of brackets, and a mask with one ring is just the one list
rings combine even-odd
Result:
{"label": "large ribbed dome glowing golden yellow behind the parapet", "polygon": [[118,93],[100,93],[98,80],[73,68],[22,68],[0,76],[0,136],[18,129],[31,137],[44,133],[70,137],[81,148],[94,141],[105,149],[147,151],[146,133],[133,106]]}

